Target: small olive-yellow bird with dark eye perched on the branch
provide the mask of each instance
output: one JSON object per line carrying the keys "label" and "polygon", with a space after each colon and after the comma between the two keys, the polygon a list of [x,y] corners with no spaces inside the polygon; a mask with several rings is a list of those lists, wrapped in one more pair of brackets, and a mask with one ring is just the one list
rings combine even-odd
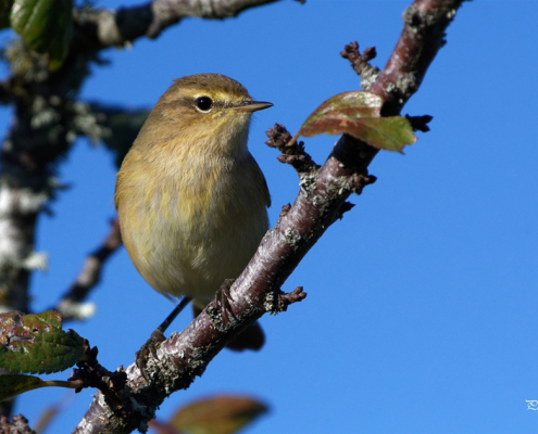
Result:
{"label": "small olive-yellow bird with dark eye perched on the branch", "polygon": [[[247,141],[252,113],[272,105],[223,75],[179,78],[117,174],[115,204],[130,259],[155,291],[192,297],[195,310],[241,273],[267,230],[271,197]],[[261,342],[247,347],[263,345],[258,334]]]}

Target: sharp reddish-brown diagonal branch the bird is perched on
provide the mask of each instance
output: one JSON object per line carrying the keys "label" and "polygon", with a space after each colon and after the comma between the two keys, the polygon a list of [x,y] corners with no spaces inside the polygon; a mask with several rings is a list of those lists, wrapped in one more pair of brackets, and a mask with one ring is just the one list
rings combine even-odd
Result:
{"label": "sharp reddish-brown diagonal branch the bird is perched on", "polygon": [[[371,88],[386,99],[387,112],[399,112],[416,91],[461,2],[417,0],[408,9],[397,48]],[[377,152],[343,135],[316,175],[301,183],[293,205],[283,208],[280,219],[235,281],[230,289],[233,319],[223,321],[212,302],[184,331],[172,334],[159,347],[158,359],[148,360],[150,384],[134,365],[127,368],[125,397],[129,399],[122,407],[124,411],[128,407],[127,418],[98,392],[75,432],[145,431],[162,400],[187,388],[227,342],[265,312],[278,311],[283,301],[299,296],[302,290],[283,296],[280,286],[325,230],[349,209],[348,196],[359,194],[375,180],[368,176],[367,166]]]}

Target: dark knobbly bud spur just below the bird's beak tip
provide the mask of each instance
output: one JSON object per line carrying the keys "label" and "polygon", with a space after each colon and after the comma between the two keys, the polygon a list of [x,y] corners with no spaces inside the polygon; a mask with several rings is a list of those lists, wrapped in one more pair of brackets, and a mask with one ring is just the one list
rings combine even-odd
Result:
{"label": "dark knobbly bud spur just below the bird's beak tip", "polygon": [[279,124],[275,124],[273,128],[267,130],[266,135],[268,140],[265,144],[280,151],[283,155],[278,155],[277,159],[280,163],[291,165],[299,174],[299,177],[317,171],[320,166],[304,151],[304,143],[297,141],[298,135],[291,137],[286,127]]}

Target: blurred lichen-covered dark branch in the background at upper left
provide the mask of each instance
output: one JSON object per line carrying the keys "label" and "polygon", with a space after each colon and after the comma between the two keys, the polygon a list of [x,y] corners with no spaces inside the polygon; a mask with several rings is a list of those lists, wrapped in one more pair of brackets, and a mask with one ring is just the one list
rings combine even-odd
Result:
{"label": "blurred lichen-covered dark branch in the background at upper left", "polygon": [[[46,256],[34,252],[36,224],[61,188],[54,169],[77,136],[93,141],[104,137],[89,105],[76,100],[90,64],[103,63],[99,51],[138,37],[154,38],[185,16],[224,18],[274,1],[155,0],[117,11],[86,5],[74,11],[70,52],[54,72],[47,56],[28,49],[22,39],[7,44],[3,54],[10,76],[0,82],[0,103],[12,104],[14,115],[0,152],[0,311],[29,310],[32,272],[46,266]],[[93,267],[89,280],[98,276],[101,265],[91,258],[86,264]],[[84,296],[82,286],[71,295]],[[5,413],[7,409],[0,407]]]}

